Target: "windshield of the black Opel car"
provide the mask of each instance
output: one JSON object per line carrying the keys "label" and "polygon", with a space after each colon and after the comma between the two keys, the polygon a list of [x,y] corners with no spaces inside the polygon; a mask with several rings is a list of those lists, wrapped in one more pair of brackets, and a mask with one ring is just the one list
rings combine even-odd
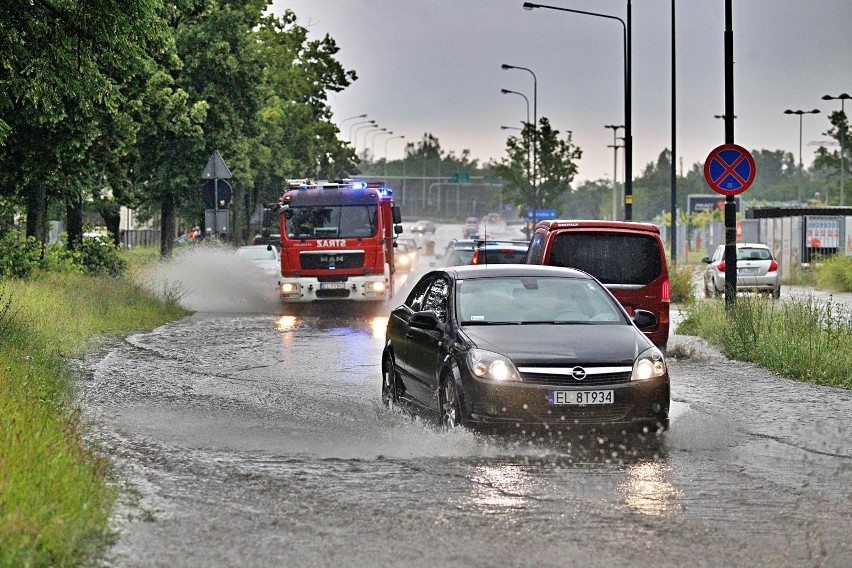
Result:
{"label": "windshield of the black Opel car", "polygon": [[596,282],[558,277],[460,280],[456,314],[462,325],[626,323],[618,304]]}

